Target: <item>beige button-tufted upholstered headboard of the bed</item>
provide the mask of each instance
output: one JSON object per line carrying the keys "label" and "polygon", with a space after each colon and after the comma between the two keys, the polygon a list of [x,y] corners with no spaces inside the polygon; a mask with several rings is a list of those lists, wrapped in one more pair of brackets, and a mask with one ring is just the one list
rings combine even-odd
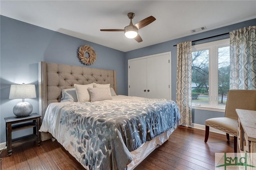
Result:
{"label": "beige button-tufted upholstered headboard of the bed", "polygon": [[[39,114],[41,118],[44,118],[50,103],[60,102],[62,89],[73,88],[74,84],[90,83],[110,84],[110,87],[117,93],[115,70],[39,62]],[[44,133],[41,133],[41,136],[43,141]],[[46,138],[50,139],[50,137]]]}

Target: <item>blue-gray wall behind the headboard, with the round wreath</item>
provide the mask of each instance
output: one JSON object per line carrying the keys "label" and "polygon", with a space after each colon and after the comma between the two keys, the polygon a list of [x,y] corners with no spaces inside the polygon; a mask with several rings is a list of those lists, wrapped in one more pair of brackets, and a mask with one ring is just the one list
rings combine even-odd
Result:
{"label": "blue-gray wall behind the headboard, with the round wreath", "polygon": [[[12,109],[21,99],[8,99],[11,84],[35,84],[38,87],[38,62],[82,65],[76,55],[80,45],[90,45],[97,53],[94,64],[84,67],[116,70],[117,92],[126,95],[124,83],[124,52],[96,43],[47,30],[38,26],[0,16],[0,142],[5,139],[4,117],[14,116]],[[38,90],[37,90],[38,96]],[[25,99],[33,105],[33,113],[38,113],[38,98]],[[13,132],[31,134],[31,130]]]}

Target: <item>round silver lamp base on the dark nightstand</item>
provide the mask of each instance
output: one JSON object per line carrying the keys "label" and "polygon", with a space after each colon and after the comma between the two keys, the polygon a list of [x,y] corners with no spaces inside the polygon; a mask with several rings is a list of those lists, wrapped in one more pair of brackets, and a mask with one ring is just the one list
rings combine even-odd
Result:
{"label": "round silver lamp base on the dark nightstand", "polygon": [[16,117],[27,117],[32,111],[33,106],[28,102],[17,103],[13,108],[13,113]]}

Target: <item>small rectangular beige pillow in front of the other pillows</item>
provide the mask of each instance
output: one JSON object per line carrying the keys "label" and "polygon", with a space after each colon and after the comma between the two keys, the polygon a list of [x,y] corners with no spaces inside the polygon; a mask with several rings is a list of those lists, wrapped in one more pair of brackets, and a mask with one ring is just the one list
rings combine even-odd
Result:
{"label": "small rectangular beige pillow in front of the other pillows", "polygon": [[90,91],[91,102],[94,101],[103,101],[103,100],[112,100],[110,88],[91,88],[88,87],[88,91]]}

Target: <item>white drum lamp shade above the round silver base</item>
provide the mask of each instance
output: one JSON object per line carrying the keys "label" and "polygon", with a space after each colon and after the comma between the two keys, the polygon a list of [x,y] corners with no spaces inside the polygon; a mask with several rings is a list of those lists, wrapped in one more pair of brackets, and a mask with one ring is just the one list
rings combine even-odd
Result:
{"label": "white drum lamp shade above the round silver base", "polygon": [[9,99],[30,99],[36,98],[35,85],[11,85]]}

